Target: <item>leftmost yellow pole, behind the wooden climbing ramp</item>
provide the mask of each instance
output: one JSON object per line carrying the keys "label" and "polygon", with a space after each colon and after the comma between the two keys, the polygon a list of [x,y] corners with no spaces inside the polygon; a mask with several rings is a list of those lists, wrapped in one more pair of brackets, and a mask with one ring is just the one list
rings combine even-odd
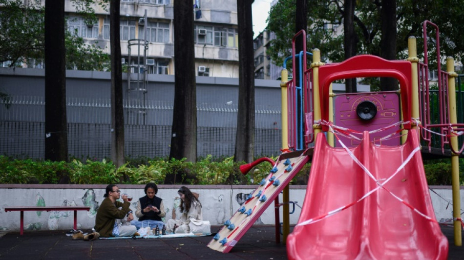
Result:
{"label": "leftmost yellow pole, behind the wooden climbing ramp", "polygon": [[[281,97],[282,97],[282,149],[288,149],[288,104],[287,104],[287,81],[288,71],[283,69],[281,72]],[[287,241],[290,234],[290,207],[289,207],[289,185],[285,186],[282,194],[282,240]]]}

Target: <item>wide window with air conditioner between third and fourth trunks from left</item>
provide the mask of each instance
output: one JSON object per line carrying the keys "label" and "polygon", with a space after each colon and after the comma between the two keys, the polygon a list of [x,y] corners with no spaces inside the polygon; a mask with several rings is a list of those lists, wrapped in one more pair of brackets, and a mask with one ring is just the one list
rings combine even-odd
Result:
{"label": "wide window with air conditioner between third and fourth trunks from left", "polygon": [[196,44],[238,47],[238,37],[234,28],[197,25],[194,34]]}

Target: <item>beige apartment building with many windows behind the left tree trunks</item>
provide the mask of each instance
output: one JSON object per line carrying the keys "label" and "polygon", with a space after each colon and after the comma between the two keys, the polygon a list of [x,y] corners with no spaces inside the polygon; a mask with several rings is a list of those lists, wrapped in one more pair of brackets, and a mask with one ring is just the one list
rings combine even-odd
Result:
{"label": "beige apartment building with many windows behind the left tree trunks", "polygon": [[[121,0],[120,34],[123,65],[146,66],[148,74],[174,74],[174,0]],[[236,0],[193,0],[195,69],[197,76],[238,77],[238,34]],[[87,24],[71,0],[65,2],[67,30],[82,37],[86,43],[100,46],[110,53],[109,13],[94,6],[98,20]],[[108,9],[108,8],[106,8]],[[145,63],[128,59],[139,49],[140,41],[148,45]],[[128,64],[130,60],[131,64]],[[37,63],[34,67],[42,67]]]}

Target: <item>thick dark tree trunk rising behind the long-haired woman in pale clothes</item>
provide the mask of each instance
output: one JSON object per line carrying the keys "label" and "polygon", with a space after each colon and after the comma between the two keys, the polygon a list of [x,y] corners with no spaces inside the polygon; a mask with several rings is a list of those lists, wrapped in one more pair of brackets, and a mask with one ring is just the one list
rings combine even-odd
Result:
{"label": "thick dark tree trunk rising behind the long-haired woman in pale clothes", "polygon": [[[174,111],[169,159],[196,161],[196,82],[193,41],[193,5],[174,1]],[[183,180],[169,173],[165,183]]]}

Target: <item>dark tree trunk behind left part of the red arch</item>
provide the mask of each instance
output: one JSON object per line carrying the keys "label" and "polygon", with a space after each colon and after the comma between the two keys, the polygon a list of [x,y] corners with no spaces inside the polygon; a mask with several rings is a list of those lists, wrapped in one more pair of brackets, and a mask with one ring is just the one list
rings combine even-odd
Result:
{"label": "dark tree trunk behind left part of the red arch", "polygon": [[[358,37],[355,32],[355,8],[356,0],[345,0],[344,13],[343,13],[343,30],[345,37],[343,40],[343,46],[345,50],[345,60],[356,56],[356,45],[358,43]],[[358,92],[356,79],[346,79],[345,89],[347,93]]]}

